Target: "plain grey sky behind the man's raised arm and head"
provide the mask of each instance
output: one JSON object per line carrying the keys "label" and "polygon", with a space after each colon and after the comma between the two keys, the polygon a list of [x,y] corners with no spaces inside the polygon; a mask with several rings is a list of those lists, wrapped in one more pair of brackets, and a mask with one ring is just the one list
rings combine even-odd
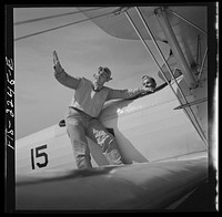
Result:
{"label": "plain grey sky behind the man's raised arm and head", "polygon": [[[77,8],[14,8],[13,22],[73,11],[78,11]],[[14,39],[82,19],[84,14],[77,13],[14,25]],[[152,42],[148,44],[154,52]],[[163,43],[160,46],[167,55],[169,48]],[[112,71],[113,80],[105,85],[113,89],[138,87],[144,74],[153,76],[158,85],[163,83],[158,76],[158,66],[140,40],[109,35],[91,20],[14,41],[16,140],[64,118],[73,90],[54,79],[53,50],[72,76],[92,80],[102,65]]]}

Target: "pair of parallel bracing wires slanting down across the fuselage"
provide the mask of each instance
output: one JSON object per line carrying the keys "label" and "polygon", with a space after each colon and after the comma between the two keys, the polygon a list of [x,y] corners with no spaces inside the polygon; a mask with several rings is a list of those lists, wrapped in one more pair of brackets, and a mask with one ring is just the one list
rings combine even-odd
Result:
{"label": "pair of parallel bracing wires slanting down across the fuselage", "polygon": [[[160,52],[160,55],[162,56],[162,59],[163,59],[165,65],[168,66],[170,73],[171,73],[171,76],[172,76],[173,80],[175,81],[175,78],[174,78],[174,75],[173,75],[173,73],[172,73],[172,71],[171,71],[171,69],[170,69],[168,62],[165,61],[164,55],[162,54],[162,52],[161,52],[161,50],[160,50],[160,48],[159,48],[159,45],[158,45],[155,39],[153,38],[153,35],[152,35],[152,33],[151,33],[151,31],[150,31],[150,29],[149,29],[149,27],[148,27],[148,24],[144,22],[144,19],[143,19],[143,17],[142,17],[142,14],[140,13],[138,7],[135,7],[135,10],[137,10],[137,12],[139,13],[140,19],[142,20],[143,24],[145,25],[145,29],[147,29],[147,31],[149,32],[149,34],[150,34],[150,37],[151,37],[153,43],[155,44],[157,50]],[[176,96],[176,99],[178,99],[180,105],[182,106],[183,104],[182,104],[180,97],[178,96],[178,94],[176,94],[175,91],[173,90],[172,85],[171,85],[170,82],[168,81],[168,79],[167,79],[167,76],[165,76],[163,70],[161,69],[161,66],[160,66],[160,64],[158,63],[158,61],[157,61],[155,56],[153,55],[152,51],[150,50],[150,48],[149,48],[148,44],[145,43],[144,39],[142,38],[142,35],[141,35],[141,33],[139,32],[138,28],[135,27],[134,22],[132,21],[130,14],[128,13],[128,11],[124,11],[124,13],[125,13],[128,20],[130,21],[131,25],[132,25],[133,29],[135,30],[135,32],[137,32],[138,37],[140,38],[141,42],[143,43],[143,45],[145,46],[145,49],[148,50],[148,52],[149,52],[150,55],[152,56],[153,61],[157,63],[158,68],[160,69],[160,72],[162,73],[162,75],[163,75],[163,78],[165,79],[167,83],[170,85],[170,87],[171,87],[171,90],[173,91],[174,95]],[[176,83],[176,81],[175,81],[175,83]],[[188,101],[186,101],[186,99],[185,99],[185,96],[184,96],[182,90],[180,89],[180,86],[179,86],[178,83],[176,83],[176,85],[178,85],[178,87],[179,87],[179,90],[180,90],[182,96],[184,97],[185,103],[188,104]],[[193,117],[194,117],[196,124],[193,122],[193,120],[192,120],[191,116],[189,115],[188,111],[186,111],[186,110],[183,110],[183,111],[185,112],[185,114],[188,115],[189,120],[191,121],[191,123],[192,123],[193,126],[195,127],[196,132],[199,133],[200,137],[202,138],[202,141],[205,143],[205,145],[206,145],[206,147],[208,147],[208,141],[206,141],[206,138],[205,138],[205,135],[204,135],[204,133],[203,133],[203,130],[201,128],[201,126],[200,126],[200,124],[199,124],[199,122],[198,122],[198,120],[196,120],[195,115],[193,114],[193,111],[191,110],[190,106],[189,106],[189,108],[190,108],[190,111],[191,111],[191,113],[192,113],[192,115],[193,115]],[[198,126],[196,126],[196,125],[198,125]]]}

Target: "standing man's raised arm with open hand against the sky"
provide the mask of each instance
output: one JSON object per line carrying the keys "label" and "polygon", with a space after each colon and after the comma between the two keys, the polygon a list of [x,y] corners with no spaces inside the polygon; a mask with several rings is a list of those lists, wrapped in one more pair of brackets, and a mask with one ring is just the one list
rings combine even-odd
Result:
{"label": "standing man's raised arm with open hand against the sky", "polygon": [[54,68],[54,78],[57,79],[57,81],[67,87],[77,90],[78,85],[81,82],[81,79],[73,78],[63,70],[56,51],[53,51],[53,63],[54,63],[54,66],[53,66]]}

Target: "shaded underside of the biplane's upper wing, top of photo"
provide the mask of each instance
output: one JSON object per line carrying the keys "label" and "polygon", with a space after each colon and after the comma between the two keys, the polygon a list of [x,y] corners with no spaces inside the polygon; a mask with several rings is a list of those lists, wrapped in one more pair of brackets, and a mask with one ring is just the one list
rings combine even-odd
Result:
{"label": "shaded underside of the biplane's upper wing, top of photo", "polygon": [[[160,7],[140,7],[140,11],[144,17],[147,24],[152,31],[155,40],[168,42],[162,28],[155,18],[155,10]],[[78,8],[88,18],[92,19],[99,28],[105,31],[108,34],[121,39],[139,40],[134,29],[128,21],[124,14],[124,7],[108,7],[101,8],[99,10],[85,11],[85,8]],[[167,16],[169,22],[173,29],[176,40],[184,53],[184,56],[190,65],[195,65],[196,63],[196,50],[198,50],[198,38],[201,39],[201,56],[204,54],[206,48],[206,7],[168,7]],[[121,12],[122,11],[122,12]],[[107,14],[108,13],[108,14]],[[132,18],[133,22],[137,24],[138,30],[145,40],[151,40],[149,33],[147,32],[143,23],[141,22],[135,9],[128,9],[128,13]],[[107,14],[104,17],[99,17],[101,14]],[[98,17],[98,18],[94,18]],[[181,19],[182,18],[182,19]],[[186,22],[185,20],[189,22]],[[192,24],[193,25],[192,25]],[[198,28],[195,28],[196,25]],[[205,31],[205,33],[203,31]]]}

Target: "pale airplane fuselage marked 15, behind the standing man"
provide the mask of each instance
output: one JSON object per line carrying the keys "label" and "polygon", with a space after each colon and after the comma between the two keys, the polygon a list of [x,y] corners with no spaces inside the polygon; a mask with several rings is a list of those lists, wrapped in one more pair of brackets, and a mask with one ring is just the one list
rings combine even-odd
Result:
{"label": "pale airplane fuselage marked 15, behind the standing man", "polygon": [[[183,78],[178,82],[182,84]],[[176,90],[175,83],[172,86]],[[186,99],[195,94],[186,90]],[[204,103],[202,103],[204,106]],[[109,102],[99,118],[118,142],[125,164],[178,158],[206,149],[169,85],[134,100]],[[206,111],[194,111],[203,120]],[[204,106],[205,107],[205,106]],[[202,124],[208,128],[206,123]],[[93,167],[108,165],[101,149],[88,140]],[[65,126],[56,124],[17,141],[17,174],[34,173],[48,168],[77,168]]]}

